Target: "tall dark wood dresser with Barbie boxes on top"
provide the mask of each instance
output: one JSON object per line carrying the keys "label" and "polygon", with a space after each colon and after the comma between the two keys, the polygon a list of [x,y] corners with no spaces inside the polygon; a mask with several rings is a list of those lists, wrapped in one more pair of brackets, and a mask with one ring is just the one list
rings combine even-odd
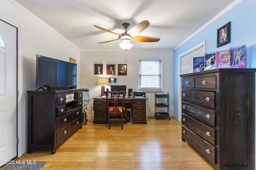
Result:
{"label": "tall dark wood dresser with Barbie boxes on top", "polygon": [[182,74],[182,141],[217,170],[255,169],[256,69]]}

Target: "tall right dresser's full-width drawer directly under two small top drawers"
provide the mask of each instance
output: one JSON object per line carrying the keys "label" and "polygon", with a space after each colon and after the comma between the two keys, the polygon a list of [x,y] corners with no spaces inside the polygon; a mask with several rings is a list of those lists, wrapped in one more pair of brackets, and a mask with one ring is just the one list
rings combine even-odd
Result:
{"label": "tall right dresser's full-width drawer directly under two small top drawers", "polygon": [[182,89],[182,101],[191,102],[201,106],[215,108],[215,92]]}

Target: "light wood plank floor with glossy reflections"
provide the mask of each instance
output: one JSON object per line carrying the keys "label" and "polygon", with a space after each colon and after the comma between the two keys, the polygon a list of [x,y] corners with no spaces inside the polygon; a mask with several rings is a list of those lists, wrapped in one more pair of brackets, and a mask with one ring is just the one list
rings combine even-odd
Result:
{"label": "light wood plank floor with glossy reflections", "polygon": [[181,140],[181,122],[147,117],[146,125],[83,125],[56,151],[35,150],[18,160],[46,161],[42,170],[212,170]]}

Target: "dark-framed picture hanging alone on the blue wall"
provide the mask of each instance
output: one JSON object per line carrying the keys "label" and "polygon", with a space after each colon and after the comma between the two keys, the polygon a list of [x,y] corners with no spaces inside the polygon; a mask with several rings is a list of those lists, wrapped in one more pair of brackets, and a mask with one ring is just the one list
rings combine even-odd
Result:
{"label": "dark-framed picture hanging alone on the blue wall", "polygon": [[230,22],[217,30],[217,47],[230,43]]}

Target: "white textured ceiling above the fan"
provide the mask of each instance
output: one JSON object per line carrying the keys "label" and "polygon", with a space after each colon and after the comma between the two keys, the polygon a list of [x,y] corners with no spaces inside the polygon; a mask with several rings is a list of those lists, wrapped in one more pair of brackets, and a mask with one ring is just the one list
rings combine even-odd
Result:
{"label": "white textured ceiling above the fan", "polygon": [[[154,43],[133,42],[132,49],[173,49],[235,0],[15,0],[80,49],[120,49],[120,41],[98,44],[148,20],[139,35]],[[131,50],[132,50],[131,49]]]}

